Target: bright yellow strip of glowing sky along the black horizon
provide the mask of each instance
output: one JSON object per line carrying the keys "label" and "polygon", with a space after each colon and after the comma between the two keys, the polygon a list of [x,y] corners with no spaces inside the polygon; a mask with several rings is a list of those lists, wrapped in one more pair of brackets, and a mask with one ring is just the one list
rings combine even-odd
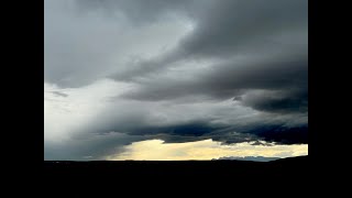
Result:
{"label": "bright yellow strip of glowing sky along the black horizon", "polygon": [[290,157],[308,155],[308,144],[294,145],[252,145],[243,142],[223,145],[212,140],[186,143],[164,143],[162,140],[134,142],[125,146],[125,151],[106,157],[109,161],[187,161],[212,160],[223,156],[264,156]]}

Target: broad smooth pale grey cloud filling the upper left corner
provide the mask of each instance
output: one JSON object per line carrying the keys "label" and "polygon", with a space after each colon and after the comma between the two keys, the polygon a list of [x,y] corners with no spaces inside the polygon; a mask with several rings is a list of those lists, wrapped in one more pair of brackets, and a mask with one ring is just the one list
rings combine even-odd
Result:
{"label": "broad smooth pale grey cloud filling the upper left corner", "polygon": [[[113,1],[117,7],[107,7],[122,9],[129,14],[139,14],[144,13],[144,6],[148,7],[148,3],[143,2]],[[84,87],[116,72],[125,73],[131,67],[128,64],[160,53],[185,32],[183,24],[185,19],[172,18],[152,24],[134,25],[129,18],[121,14],[107,15],[105,10],[101,12],[101,9],[96,7],[96,4],[105,7],[107,3],[112,1],[45,2],[46,81],[61,87]],[[120,7],[120,3],[125,6]],[[94,9],[82,9],[86,7]],[[129,8],[135,9],[135,12],[131,12]],[[150,13],[157,12],[151,10]]]}

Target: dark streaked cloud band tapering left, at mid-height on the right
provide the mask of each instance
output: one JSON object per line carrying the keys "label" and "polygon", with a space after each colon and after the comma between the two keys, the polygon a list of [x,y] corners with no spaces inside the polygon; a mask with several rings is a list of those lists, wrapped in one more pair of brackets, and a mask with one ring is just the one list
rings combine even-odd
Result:
{"label": "dark streaked cloud band tapering left, at mid-height on the right", "polygon": [[[151,80],[124,97],[135,100],[173,100],[201,95],[224,100],[239,98],[262,111],[295,112],[308,108],[308,65],[305,56],[293,59],[235,61],[213,66],[216,70],[190,80]],[[251,92],[251,90],[260,90]]]}

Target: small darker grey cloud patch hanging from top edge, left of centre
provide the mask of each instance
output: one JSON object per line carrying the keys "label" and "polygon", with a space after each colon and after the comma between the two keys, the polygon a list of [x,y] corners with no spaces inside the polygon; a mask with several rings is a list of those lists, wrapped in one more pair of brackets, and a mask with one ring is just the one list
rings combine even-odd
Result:
{"label": "small darker grey cloud patch hanging from top edge, left of centre", "polygon": [[[81,12],[99,12],[114,18],[123,15],[132,24],[145,25],[167,16],[191,16],[200,3],[195,0],[76,0],[77,10]],[[204,0],[207,4],[208,0]]]}

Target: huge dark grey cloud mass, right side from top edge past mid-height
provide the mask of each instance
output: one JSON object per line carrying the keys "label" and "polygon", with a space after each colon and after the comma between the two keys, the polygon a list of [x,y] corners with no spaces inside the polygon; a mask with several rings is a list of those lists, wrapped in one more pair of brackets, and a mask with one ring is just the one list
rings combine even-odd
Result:
{"label": "huge dark grey cloud mass, right side from top edge past mid-height", "polygon": [[[306,111],[307,7],[304,1],[276,0],[215,3],[208,10],[213,14],[197,19],[195,31],[177,48],[155,59],[139,62],[128,73],[113,77],[134,81],[146,78],[139,81],[140,89],[125,96],[136,100],[168,100],[189,95],[227,99],[251,89],[292,90],[286,96],[256,96],[255,101],[243,103],[263,111]],[[215,64],[208,73],[196,70],[188,80],[160,77],[185,58],[210,57],[224,63]]]}

